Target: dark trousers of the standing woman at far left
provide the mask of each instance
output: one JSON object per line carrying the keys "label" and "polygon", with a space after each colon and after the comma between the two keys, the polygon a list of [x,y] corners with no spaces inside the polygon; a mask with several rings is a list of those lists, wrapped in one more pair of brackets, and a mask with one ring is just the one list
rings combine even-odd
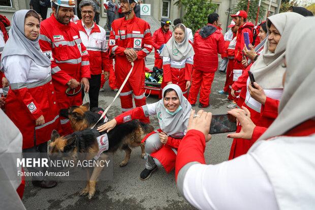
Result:
{"label": "dark trousers of the standing woman at far left", "polygon": [[[23,149],[23,158],[48,158],[47,154],[47,141],[38,146],[34,146],[31,148]],[[46,167],[27,167],[29,172],[42,172],[45,174],[47,168]],[[44,179],[43,176],[33,176],[33,181],[42,181]]]}

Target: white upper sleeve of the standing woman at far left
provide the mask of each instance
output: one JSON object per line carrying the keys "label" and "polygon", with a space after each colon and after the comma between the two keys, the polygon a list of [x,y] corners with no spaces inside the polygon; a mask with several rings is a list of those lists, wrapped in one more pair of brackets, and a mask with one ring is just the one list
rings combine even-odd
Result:
{"label": "white upper sleeve of the standing woman at far left", "polygon": [[9,55],[3,59],[5,75],[10,85],[25,83],[27,81],[30,62],[31,59],[25,55]]}

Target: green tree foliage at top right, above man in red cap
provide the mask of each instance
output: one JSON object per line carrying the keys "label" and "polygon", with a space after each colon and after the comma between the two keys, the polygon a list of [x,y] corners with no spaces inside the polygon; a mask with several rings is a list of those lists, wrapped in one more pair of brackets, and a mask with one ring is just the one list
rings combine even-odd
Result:
{"label": "green tree foliage at top right, above man in red cap", "polygon": [[[241,0],[236,6],[235,8],[233,8],[233,12],[234,14],[239,11],[239,10],[247,10],[247,0]],[[249,4],[249,10],[248,10],[248,14],[247,14],[247,19],[250,20],[251,22],[253,22],[255,24],[255,20],[256,20],[256,15],[257,15],[257,10],[258,10],[258,4],[259,4],[259,0],[250,0],[250,4]],[[265,17],[265,12],[266,12],[266,8],[263,7],[263,4],[260,5],[260,10],[259,10],[259,16],[258,16],[258,22],[261,22],[261,19],[264,19]]]}

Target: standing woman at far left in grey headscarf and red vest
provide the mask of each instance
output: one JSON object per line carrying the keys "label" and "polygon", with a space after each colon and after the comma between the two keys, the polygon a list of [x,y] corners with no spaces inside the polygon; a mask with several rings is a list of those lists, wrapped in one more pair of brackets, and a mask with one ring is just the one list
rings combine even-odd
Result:
{"label": "standing woman at far left in grey headscarf and red vest", "polygon": [[[2,71],[10,83],[6,114],[21,131],[24,158],[47,158],[47,141],[52,130],[60,130],[59,109],[51,82],[50,59],[39,47],[40,18],[34,10],[19,10],[12,19],[10,38],[2,54]],[[29,172],[45,174],[42,167]],[[54,181],[33,176],[32,184],[52,188]]]}

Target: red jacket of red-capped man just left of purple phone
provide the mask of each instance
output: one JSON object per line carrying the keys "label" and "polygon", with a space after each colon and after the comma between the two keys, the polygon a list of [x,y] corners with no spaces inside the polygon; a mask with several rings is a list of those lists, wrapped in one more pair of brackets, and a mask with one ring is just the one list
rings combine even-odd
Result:
{"label": "red jacket of red-capped man just left of purple phone", "polygon": [[[251,22],[245,22],[242,26],[240,26],[237,30],[237,38],[235,45],[235,56],[234,59],[238,62],[242,62],[242,50],[244,48],[244,32],[248,32],[249,35],[249,43],[253,42],[253,29],[254,24]],[[243,65],[241,65],[243,66]]]}

